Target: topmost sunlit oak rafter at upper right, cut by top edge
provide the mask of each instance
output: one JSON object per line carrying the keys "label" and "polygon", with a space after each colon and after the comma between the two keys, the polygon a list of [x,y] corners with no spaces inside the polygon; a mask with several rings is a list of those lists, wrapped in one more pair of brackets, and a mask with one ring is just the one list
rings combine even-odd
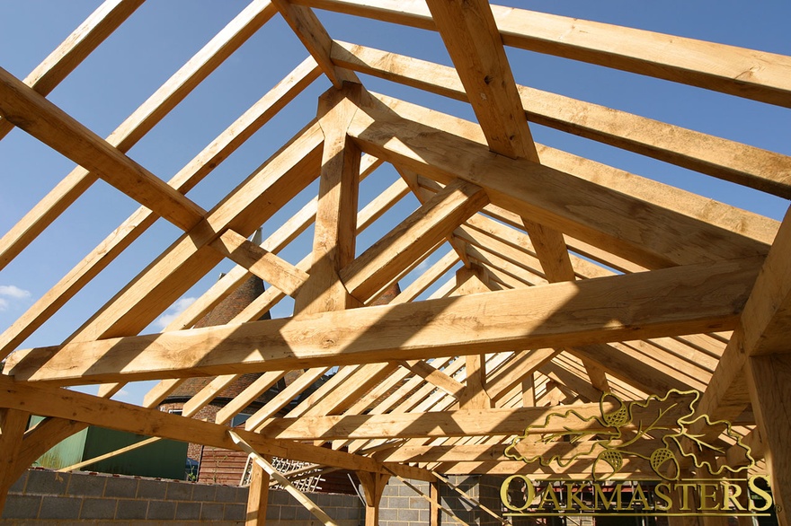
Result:
{"label": "topmost sunlit oak rafter at upper right, cut by top edge", "polygon": [[[342,13],[436,30],[422,1],[296,0]],[[506,46],[573,58],[678,83],[791,106],[791,58],[653,31],[492,5]]]}

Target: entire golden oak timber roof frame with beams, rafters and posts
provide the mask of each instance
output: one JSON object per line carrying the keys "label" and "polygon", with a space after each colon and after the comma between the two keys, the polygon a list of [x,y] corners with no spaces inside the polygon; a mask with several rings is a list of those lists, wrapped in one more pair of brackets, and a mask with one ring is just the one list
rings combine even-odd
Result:
{"label": "entire golden oak timber roof frame with beams, rafters and posts", "polygon": [[[785,108],[791,57],[483,0],[464,7],[440,0],[254,0],[102,139],[46,95],[139,4],[107,0],[24,81],[0,70],[0,139],[19,127],[79,165],[0,239],[0,268],[95,180],[141,206],[0,334],[0,357],[7,357],[0,510],[31,461],[85,425],[187,442],[200,436],[234,449],[231,417],[286,373],[305,370],[239,435],[260,456],[360,473],[367,523],[376,523],[391,474],[432,484],[432,472],[555,474],[502,455],[510,437],[551,410],[541,407],[547,403],[594,410],[603,391],[640,399],[677,388],[703,393],[701,414],[740,426],[765,459],[780,523],[791,526],[791,216],[778,224],[538,145],[529,125],[784,198],[791,197],[791,158],[517,85],[503,46]],[[454,67],[333,40],[313,9],[439,31]],[[305,62],[172,180],[125,154],[277,13],[307,48]],[[733,80],[742,71],[755,74]],[[477,122],[369,92],[358,73],[468,101]],[[185,195],[323,76],[332,86],[316,119],[285,138],[238,188],[208,211]],[[401,178],[359,203],[360,180],[383,163]],[[267,223],[314,180],[316,199],[284,224]],[[410,194],[420,202],[413,214],[355,256],[356,235]],[[183,232],[159,258],[66,341],[19,348],[123,250],[134,250],[158,217]],[[270,237],[247,241],[262,224]],[[311,224],[311,252],[296,264],[282,259],[278,253]],[[370,306],[443,246],[449,249],[442,258],[389,305]],[[163,333],[140,334],[224,258],[237,267]],[[253,275],[270,285],[265,294],[227,326],[192,329]],[[430,298],[418,299],[443,276]],[[293,317],[256,321],[286,295],[295,298]],[[338,371],[324,388],[277,416],[333,366]],[[188,417],[241,373],[263,374],[217,422]],[[196,375],[217,379],[188,402],[184,416],[157,409]],[[142,407],[110,399],[141,379],[160,381]],[[63,389],[97,382],[99,396]],[[29,430],[31,414],[47,419]],[[578,464],[563,473],[582,475],[584,460]],[[635,478],[644,476],[639,462],[630,466]],[[250,524],[262,523],[266,487],[267,474],[256,469]]]}

